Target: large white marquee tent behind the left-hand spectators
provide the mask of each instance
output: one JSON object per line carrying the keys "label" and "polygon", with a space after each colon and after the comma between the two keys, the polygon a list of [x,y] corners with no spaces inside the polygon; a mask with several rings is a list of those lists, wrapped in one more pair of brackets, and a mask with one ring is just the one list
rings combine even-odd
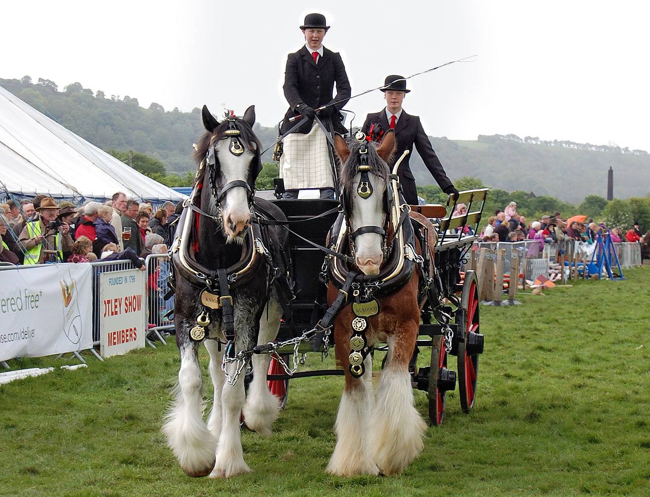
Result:
{"label": "large white marquee tent behind the left-hand spectators", "polygon": [[39,193],[76,203],[127,198],[159,203],[186,198],[122,163],[0,87],[0,198]]}

